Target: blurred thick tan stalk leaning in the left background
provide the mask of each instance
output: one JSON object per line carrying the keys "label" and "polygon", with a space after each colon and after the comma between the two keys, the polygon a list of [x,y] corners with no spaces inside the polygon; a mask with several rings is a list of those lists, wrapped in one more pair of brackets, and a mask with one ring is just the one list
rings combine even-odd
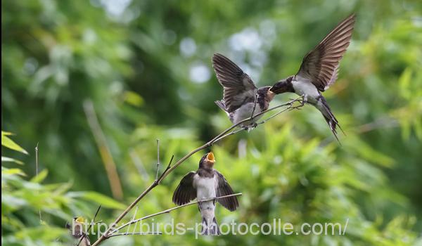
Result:
{"label": "blurred thick tan stalk leaning in the left background", "polygon": [[113,160],[113,156],[110,153],[110,148],[106,141],[106,136],[104,136],[101,126],[96,117],[96,112],[94,105],[90,100],[84,101],[84,112],[87,116],[89,127],[91,128],[92,134],[94,134],[94,140],[100,152],[101,159],[103,164],[106,167],[106,173],[108,181],[110,182],[111,193],[113,193],[113,198],[117,200],[122,200],[123,191],[120,184],[119,174],[117,174],[116,164]]}

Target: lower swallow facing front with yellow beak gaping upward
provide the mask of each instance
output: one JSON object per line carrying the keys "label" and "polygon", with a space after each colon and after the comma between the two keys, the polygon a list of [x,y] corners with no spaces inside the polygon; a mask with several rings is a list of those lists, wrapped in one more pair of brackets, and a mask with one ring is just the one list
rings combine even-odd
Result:
{"label": "lower swallow facing front with yellow beak gaping upward", "polygon": [[[200,201],[234,194],[223,174],[213,168],[214,163],[215,158],[212,152],[204,155],[199,161],[198,170],[186,174],[173,193],[173,202],[177,205],[184,205],[197,198],[198,208],[203,217],[201,232],[203,235],[219,235],[220,233],[214,214],[215,200]],[[234,196],[217,199],[217,202],[230,211],[239,207],[238,200]]]}

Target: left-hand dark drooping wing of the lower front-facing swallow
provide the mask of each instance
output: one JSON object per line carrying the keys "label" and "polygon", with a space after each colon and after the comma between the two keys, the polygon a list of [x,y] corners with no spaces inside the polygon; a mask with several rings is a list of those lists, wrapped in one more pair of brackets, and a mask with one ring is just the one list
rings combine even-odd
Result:
{"label": "left-hand dark drooping wing of the lower front-facing swallow", "polygon": [[173,202],[177,205],[184,205],[196,198],[196,189],[193,188],[193,176],[196,172],[191,171],[181,179],[179,186],[173,193]]}

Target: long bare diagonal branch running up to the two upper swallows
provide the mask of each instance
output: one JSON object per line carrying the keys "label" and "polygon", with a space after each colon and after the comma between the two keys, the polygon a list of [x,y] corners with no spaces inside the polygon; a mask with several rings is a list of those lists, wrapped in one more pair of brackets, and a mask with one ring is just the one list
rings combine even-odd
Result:
{"label": "long bare diagonal branch running up to the two upper swallows", "polygon": [[[169,165],[167,166],[167,169],[165,169],[165,171],[162,172],[162,174],[160,175],[160,177],[158,177],[157,180],[155,180],[151,186],[148,186],[148,188],[146,188],[146,190],[143,191],[143,193],[141,193],[141,195],[139,195],[138,198],[136,198],[134,200],[134,202],[132,202],[131,205],[129,205],[127,207],[127,209],[124,210],[124,212],[122,212],[122,214],[120,214],[120,216],[117,217],[117,219],[115,219],[115,221],[113,222],[113,225],[117,225],[117,223],[119,223],[124,216],[126,216],[126,214],[140,201],[142,200],[143,197],[145,197],[146,194],[148,194],[153,188],[155,188],[155,186],[158,186],[158,184],[160,184],[160,182],[165,179],[165,177],[170,174],[174,169],[176,169],[177,167],[179,167],[179,165],[181,163],[183,163],[185,160],[187,160],[189,157],[191,157],[193,154],[199,152],[200,150],[204,150],[205,148],[209,148],[210,146],[212,146],[214,143],[216,143],[217,141],[221,141],[223,138],[226,138],[227,136],[233,135],[236,132],[238,132],[237,130],[234,131],[234,133],[229,133],[230,131],[232,131],[233,129],[235,129],[236,127],[240,126],[241,124],[248,122],[252,119],[255,119],[257,117],[260,117],[261,115],[264,115],[265,113],[272,111],[272,110],[276,110],[277,108],[282,108],[282,107],[287,107],[286,109],[295,109],[295,108],[300,108],[302,107],[302,105],[298,105],[293,107],[293,104],[295,102],[300,102],[302,100],[302,97],[293,99],[291,101],[288,101],[287,103],[283,103],[281,105],[277,105],[273,108],[269,108],[268,110],[264,110],[260,113],[257,113],[256,115],[252,115],[252,117],[248,117],[246,119],[241,120],[240,122],[238,122],[237,124],[232,125],[231,127],[225,129],[224,131],[222,131],[220,134],[218,134],[217,136],[215,136],[214,138],[212,138],[210,141],[208,141],[207,143],[205,143],[204,145],[191,150],[191,152],[189,152],[188,154],[186,154],[184,157],[181,157],[180,160],[178,160],[174,165],[170,166],[170,164],[172,163],[173,157],[172,156],[172,160],[170,160]],[[285,110],[283,110],[284,112]],[[106,233],[104,233],[103,235],[101,235],[100,238],[98,238],[98,240],[96,240],[96,242],[94,242],[94,244],[92,246],[96,246],[99,245],[101,242],[103,242],[104,240],[106,240],[107,238],[109,238],[109,234],[112,231],[113,227],[110,227],[108,229],[108,231],[106,231]]]}

